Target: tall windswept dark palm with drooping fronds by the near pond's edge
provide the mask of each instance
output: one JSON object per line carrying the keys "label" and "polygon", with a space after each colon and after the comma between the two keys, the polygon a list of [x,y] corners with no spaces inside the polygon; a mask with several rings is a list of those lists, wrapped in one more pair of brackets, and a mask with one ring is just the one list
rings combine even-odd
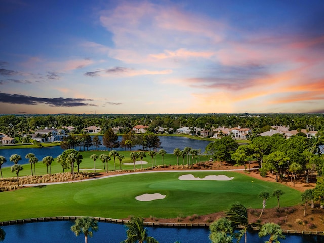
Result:
{"label": "tall windswept dark palm with drooping fronds by the near pond's edge", "polygon": [[247,229],[250,226],[247,208],[241,203],[234,203],[231,208],[226,211],[225,215],[232,223],[243,226],[237,242],[239,242],[244,235],[244,242],[247,243]]}

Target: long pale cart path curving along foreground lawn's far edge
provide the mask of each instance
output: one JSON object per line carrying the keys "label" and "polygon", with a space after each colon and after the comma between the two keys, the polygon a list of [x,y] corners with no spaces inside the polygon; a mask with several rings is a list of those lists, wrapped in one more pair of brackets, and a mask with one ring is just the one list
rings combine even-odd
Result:
{"label": "long pale cart path curving along foreground lawn's far edge", "polygon": [[[250,170],[259,170],[259,168],[251,168]],[[116,177],[116,176],[127,176],[127,175],[134,175],[134,174],[144,174],[144,173],[164,173],[164,172],[222,172],[222,171],[244,171],[244,169],[231,169],[231,170],[166,170],[166,171],[141,171],[141,172],[131,172],[131,173],[123,173],[123,174],[115,174],[115,175],[109,175],[109,176],[101,176],[101,177],[95,177],[95,178],[89,178],[84,180],[75,180],[75,181],[63,181],[63,182],[48,182],[48,183],[36,183],[36,184],[25,184],[23,186],[46,186],[46,185],[57,185],[57,184],[63,184],[63,183],[76,183],[76,182],[83,182],[83,181],[94,181],[94,180],[100,180],[110,177]]]}

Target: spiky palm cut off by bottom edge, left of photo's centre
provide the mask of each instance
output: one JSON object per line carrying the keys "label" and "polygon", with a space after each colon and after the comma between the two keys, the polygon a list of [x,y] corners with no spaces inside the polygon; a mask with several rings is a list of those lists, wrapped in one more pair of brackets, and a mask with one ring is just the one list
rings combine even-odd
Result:
{"label": "spiky palm cut off by bottom edge, left of photo's centre", "polygon": [[122,243],[158,243],[158,241],[148,236],[146,228],[144,228],[144,219],[142,217],[131,216],[131,220],[126,223],[127,239],[122,241]]}

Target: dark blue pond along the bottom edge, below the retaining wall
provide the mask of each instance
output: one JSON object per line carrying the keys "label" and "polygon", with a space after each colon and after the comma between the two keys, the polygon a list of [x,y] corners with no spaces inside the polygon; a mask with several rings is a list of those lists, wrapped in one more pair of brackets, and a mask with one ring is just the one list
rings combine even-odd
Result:
{"label": "dark blue pond along the bottom edge, below the retaining wall", "polygon": [[[70,230],[73,225],[71,221],[56,221],[42,223],[28,223],[19,225],[3,226],[6,238],[3,242],[33,242],[33,243],[56,243],[56,242],[85,242],[84,236],[78,237]],[[124,225],[111,223],[98,223],[99,231],[94,232],[88,242],[119,243],[126,239],[126,228]],[[160,243],[209,243],[209,230],[207,228],[156,228],[148,227],[149,236],[154,237]],[[259,238],[256,232],[248,233],[248,242],[263,243],[268,237]],[[286,235],[286,239],[280,239],[281,243],[315,243],[324,242],[321,236],[297,236]],[[241,239],[243,242],[243,239]]]}

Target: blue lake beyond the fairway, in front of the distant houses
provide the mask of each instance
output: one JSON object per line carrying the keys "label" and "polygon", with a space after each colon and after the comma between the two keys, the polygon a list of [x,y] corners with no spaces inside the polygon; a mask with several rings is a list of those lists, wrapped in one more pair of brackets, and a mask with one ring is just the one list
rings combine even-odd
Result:
{"label": "blue lake beyond the fairway, in front of the distant houses", "polygon": [[[99,136],[102,140],[102,136]],[[167,151],[167,153],[173,153],[175,148],[180,148],[181,150],[185,147],[190,147],[192,149],[201,149],[202,152],[205,151],[205,147],[210,143],[210,141],[190,139],[186,137],[171,137],[171,136],[159,136],[161,141],[161,146]],[[121,136],[118,136],[118,140],[121,141]],[[76,148],[78,149],[78,148]],[[82,148],[83,149],[83,148]],[[94,150],[96,147],[92,146],[89,150]],[[142,149],[141,146],[133,147],[132,150]],[[99,150],[106,150],[106,147],[101,145]],[[116,150],[124,150],[123,148],[118,148]],[[9,158],[13,154],[19,154],[22,160],[19,161],[19,164],[28,164],[28,159],[25,156],[28,153],[33,153],[36,155],[38,160],[42,160],[46,156],[52,156],[56,158],[64,150],[60,146],[47,147],[47,148],[13,148],[13,149],[0,149],[0,155],[4,156],[7,159],[7,163],[3,164],[2,167],[12,166],[12,163],[9,161]],[[9,163],[8,163],[9,162]]]}

